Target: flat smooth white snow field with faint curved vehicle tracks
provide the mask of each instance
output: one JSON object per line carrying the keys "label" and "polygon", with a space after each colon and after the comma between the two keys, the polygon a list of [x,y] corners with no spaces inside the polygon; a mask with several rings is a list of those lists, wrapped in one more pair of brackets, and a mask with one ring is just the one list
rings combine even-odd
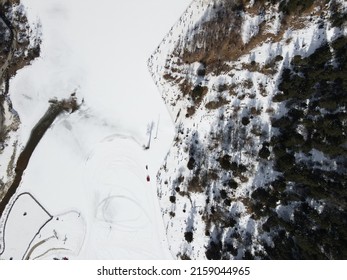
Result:
{"label": "flat smooth white snow field with faint curved vehicle tracks", "polygon": [[[34,151],[0,224],[0,258],[172,258],[155,177],[174,127],[146,62],[189,1],[21,2],[41,23],[42,46],[10,84],[19,142],[50,99],[76,92],[83,105],[60,115]],[[23,193],[44,208],[16,199]]]}

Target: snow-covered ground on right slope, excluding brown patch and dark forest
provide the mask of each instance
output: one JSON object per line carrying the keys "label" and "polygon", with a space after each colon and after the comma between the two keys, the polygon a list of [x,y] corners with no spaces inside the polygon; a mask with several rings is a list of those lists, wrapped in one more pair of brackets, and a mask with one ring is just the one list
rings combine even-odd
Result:
{"label": "snow-covered ground on right slope, excluding brown patch and dark forest", "polygon": [[[251,2],[254,3],[254,1]],[[230,213],[231,216],[234,214],[240,216],[236,227],[237,234],[255,238],[259,236],[260,224],[257,224],[246,211],[247,208],[242,200],[244,197],[250,196],[249,193],[254,187],[261,187],[267,182],[273,182],[278,175],[270,165],[259,164],[256,160],[257,156],[254,154],[257,155],[258,150],[256,149],[262,147],[262,142],[270,141],[271,136],[275,133],[269,125],[274,112],[278,116],[286,113],[285,108],[272,101],[274,94],[278,91],[282,69],[290,67],[293,57],[307,57],[324,42],[331,42],[342,34],[346,34],[346,29],[332,27],[331,24],[322,28],[321,19],[315,17],[314,20],[306,22],[300,28],[298,25],[296,28],[284,30],[282,38],[278,41],[270,39],[260,41],[237,59],[226,61],[230,70],[223,70],[219,74],[208,73],[202,78],[197,75],[197,69],[202,65],[199,62],[190,64],[184,62],[182,53],[184,53],[184,49],[192,48],[191,53],[194,55],[194,48],[190,42],[193,41],[194,35],[207,33],[206,30],[201,29],[199,24],[208,21],[214,14],[213,10],[211,2],[193,1],[149,60],[153,77],[177,126],[175,143],[167,157],[165,167],[158,176],[160,184],[163,186],[158,193],[170,248],[178,258],[205,259],[206,248],[210,240],[217,243],[216,240],[220,240],[220,237],[216,237],[218,235],[223,234],[223,238],[232,236],[232,231],[228,227],[223,233],[223,231],[219,231],[218,226],[211,227],[206,223],[206,217],[208,217],[206,213],[212,207],[217,208],[215,201],[219,199],[219,190],[228,190],[228,188],[223,188],[223,184],[229,180],[229,175],[226,172],[223,173],[220,162],[216,160],[221,154],[227,154],[233,161],[247,166],[249,172],[246,173],[244,181],[236,178],[237,176],[232,177],[238,180],[238,187],[235,191],[228,190],[232,202],[230,205],[221,203],[222,209],[227,209],[226,213]],[[281,27],[278,11],[268,10],[259,15],[243,14],[242,24],[240,27],[235,27],[240,29],[240,39],[244,43],[250,42],[258,34],[259,25],[265,20],[267,20],[267,24],[270,24],[264,37],[270,38],[271,34],[277,35]],[[177,41],[181,41],[182,45],[177,47],[175,44]],[[208,40],[203,37],[200,45],[206,41]],[[199,46],[198,43],[196,45]],[[252,62],[264,67],[270,61],[274,61],[276,56],[282,57],[282,60],[277,62],[277,69],[274,67],[276,69],[274,74],[265,74],[264,71],[255,71],[247,67]],[[208,93],[202,98],[202,105],[196,106],[191,95],[182,92],[180,86],[184,82],[192,85],[191,89],[198,85],[208,88]],[[247,83],[250,83],[250,86],[247,86]],[[262,89],[260,85],[264,88]],[[223,86],[225,89],[220,90]],[[228,86],[231,86],[231,91],[227,90]],[[217,109],[209,109],[206,106],[211,101],[217,103],[218,100],[223,99],[226,100],[226,104],[219,105]],[[196,110],[194,113],[188,113],[188,108],[192,107]],[[251,112],[252,108],[256,111],[260,110],[255,114]],[[251,116],[251,125],[247,126],[248,130],[242,132],[243,127],[246,126],[242,124],[242,119],[246,116]],[[229,120],[230,123],[228,123]],[[255,135],[251,131],[252,127],[261,128],[266,136],[260,138],[259,135]],[[251,139],[252,142],[242,142],[242,139],[246,139],[242,134],[250,137],[248,139]],[[215,140],[223,140],[224,143],[219,144]],[[238,148],[240,146],[242,148]],[[188,167],[191,159],[198,162],[192,165],[199,166],[202,171],[218,170],[219,179],[210,180],[208,183],[193,184],[192,182],[197,182],[193,181],[198,178],[197,170],[201,170]],[[201,176],[200,180],[207,179]],[[201,187],[202,190],[194,190],[195,185]],[[189,191],[189,187],[192,191]],[[286,211],[290,215],[290,211],[288,209]],[[208,232],[207,235],[206,232]],[[194,237],[189,238],[186,233],[191,234],[190,236],[194,234]],[[243,244],[237,244],[236,238],[231,240],[234,242],[234,248],[238,248],[238,252],[235,256],[230,257],[243,258]]]}

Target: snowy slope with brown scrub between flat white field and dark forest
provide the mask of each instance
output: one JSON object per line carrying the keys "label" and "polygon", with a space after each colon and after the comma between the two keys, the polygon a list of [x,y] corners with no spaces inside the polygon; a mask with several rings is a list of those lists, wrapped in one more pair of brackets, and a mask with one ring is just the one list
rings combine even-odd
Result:
{"label": "snowy slope with brown scrub between flat white field and dark forest", "polygon": [[[176,258],[266,258],[267,218],[256,217],[251,197],[280,175],[267,147],[273,118],[287,113],[273,101],[282,71],[346,36],[346,25],[328,20],[331,3],[317,1],[284,22],[278,4],[236,2],[245,1],[193,1],[148,62],[176,125],[158,176]],[[290,216],[294,208],[280,203],[279,215]]]}

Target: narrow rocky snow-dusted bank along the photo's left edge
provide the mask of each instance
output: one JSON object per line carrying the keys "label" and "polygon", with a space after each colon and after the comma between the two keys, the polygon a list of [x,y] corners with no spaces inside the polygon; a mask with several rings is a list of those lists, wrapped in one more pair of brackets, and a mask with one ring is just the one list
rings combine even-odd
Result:
{"label": "narrow rocky snow-dusted bank along the photo's left edge", "polygon": [[10,79],[40,55],[40,24],[32,25],[19,0],[0,2],[0,201],[14,178],[20,119],[9,95]]}

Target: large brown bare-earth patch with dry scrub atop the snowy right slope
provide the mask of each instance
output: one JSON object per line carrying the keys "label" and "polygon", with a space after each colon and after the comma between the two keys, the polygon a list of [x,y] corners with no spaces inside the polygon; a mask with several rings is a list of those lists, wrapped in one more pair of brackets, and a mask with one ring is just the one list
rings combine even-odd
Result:
{"label": "large brown bare-earth patch with dry scrub atop the snowy right slope", "polygon": [[[315,8],[324,6],[324,1],[316,1],[314,5],[304,9],[301,9],[300,6],[300,13],[284,13],[280,17],[280,28],[276,34],[269,32],[271,21],[264,20],[258,26],[258,33],[244,44],[241,39],[241,32],[239,32],[243,23],[243,13],[259,15],[264,13],[265,9],[271,9],[273,13],[278,13],[279,11],[270,2],[256,1],[254,5],[249,6],[249,1],[246,0],[221,1],[219,5],[214,7],[215,16],[211,20],[195,26],[194,30],[198,31],[189,38],[184,37],[185,43],[177,44],[174,54],[185,64],[204,63],[206,74],[226,73],[230,71],[230,66],[225,62],[238,60],[263,42],[275,43],[283,40],[285,31],[289,27],[291,29],[305,27],[309,20],[308,16],[317,13]],[[182,45],[183,49],[181,49]],[[253,68],[253,71],[271,73],[271,69],[268,68]]]}

